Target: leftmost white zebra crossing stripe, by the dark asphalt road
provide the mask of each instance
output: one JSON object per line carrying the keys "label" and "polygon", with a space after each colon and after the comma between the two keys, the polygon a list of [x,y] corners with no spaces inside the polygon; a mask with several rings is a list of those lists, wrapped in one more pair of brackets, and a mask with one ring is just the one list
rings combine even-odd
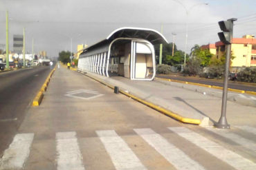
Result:
{"label": "leftmost white zebra crossing stripe, by the dark asphalt road", "polygon": [[0,159],[0,169],[22,169],[30,153],[34,134],[17,134]]}

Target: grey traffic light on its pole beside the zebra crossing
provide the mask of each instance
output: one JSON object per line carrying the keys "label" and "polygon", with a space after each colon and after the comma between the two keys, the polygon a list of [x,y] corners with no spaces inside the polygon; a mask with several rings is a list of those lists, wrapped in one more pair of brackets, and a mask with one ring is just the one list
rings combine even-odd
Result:
{"label": "grey traffic light on its pole beside the zebra crossing", "polygon": [[227,21],[219,21],[219,27],[223,32],[219,32],[218,36],[222,43],[226,44],[226,65],[224,74],[224,85],[222,94],[222,105],[221,105],[221,117],[219,122],[214,126],[220,129],[230,129],[228,121],[226,119],[226,107],[227,107],[227,95],[228,95],[228,74],[230,66],[230,54],[231,54],[231,44],[233,38],[233,22],[237,19],[228,19]]}

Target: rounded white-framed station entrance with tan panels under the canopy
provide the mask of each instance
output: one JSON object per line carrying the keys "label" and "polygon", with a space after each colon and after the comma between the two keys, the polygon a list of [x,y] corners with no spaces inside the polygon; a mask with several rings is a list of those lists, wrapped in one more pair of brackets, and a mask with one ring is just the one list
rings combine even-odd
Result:
{"label": "rounded white-framed station entrance with tan panels under the canopy", "polygon": [[118,39],[111,45],[110,75],[131,80],[152,80],[154,77],[154,47],[144,40]]}

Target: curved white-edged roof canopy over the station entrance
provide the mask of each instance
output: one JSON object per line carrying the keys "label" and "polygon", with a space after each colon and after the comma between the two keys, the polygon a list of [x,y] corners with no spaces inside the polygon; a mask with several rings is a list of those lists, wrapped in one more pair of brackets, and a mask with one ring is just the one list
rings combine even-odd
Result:
{"label": "curved white-edged roof canopy over the station entrance", "polygon": [[86,53],[87,56],[95,53],[95,50],[98,52],[106,52],[111,41],[118,38],[145,39],[153,45],[168,43],[163,34],[156,30],[148,28],[125,27],[114,30],[111,32],[111,34],[109,34],[109,36],[107,36],[107,39],[86,47],[82,53]]}

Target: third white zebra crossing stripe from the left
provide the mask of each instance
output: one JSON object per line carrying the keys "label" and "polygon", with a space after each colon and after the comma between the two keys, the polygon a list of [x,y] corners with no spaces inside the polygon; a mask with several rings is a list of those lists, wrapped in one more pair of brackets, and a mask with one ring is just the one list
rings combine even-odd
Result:
{"label": "third white zebra crossing stripe from the left", "polygon": [[96,131],[96,133],[107,149],[113,165],[117,170],[146,169],[134,152],[128,147],[127,143],[116,134],[116,131],[106,130]]}

